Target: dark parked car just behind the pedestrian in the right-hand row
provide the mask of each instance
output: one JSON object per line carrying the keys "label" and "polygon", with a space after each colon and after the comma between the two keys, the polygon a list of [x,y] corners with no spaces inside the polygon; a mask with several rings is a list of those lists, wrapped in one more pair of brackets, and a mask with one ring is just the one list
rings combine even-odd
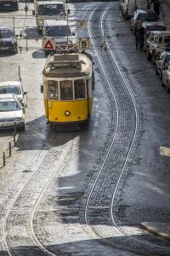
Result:
{"label": "dark parked car just behind the pedestrian in the right-hand row", "polygon": [[135,28],[142,25],[144,21],[158,21],[154,11],[144,11],[137,9],[133,15],[133,18],[129,22],[130,30],[134,32]]}

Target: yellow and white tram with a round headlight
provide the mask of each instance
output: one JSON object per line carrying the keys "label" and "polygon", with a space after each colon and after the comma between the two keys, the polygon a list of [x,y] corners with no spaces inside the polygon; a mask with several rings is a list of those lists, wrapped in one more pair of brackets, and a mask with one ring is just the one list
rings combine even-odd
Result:
{"label": "yellow and white tram with a round headlight", "polygon": [[48,55],[42,76],[45,116],[50,125],[81,124],[88,120],[94,89],[91,55]]}

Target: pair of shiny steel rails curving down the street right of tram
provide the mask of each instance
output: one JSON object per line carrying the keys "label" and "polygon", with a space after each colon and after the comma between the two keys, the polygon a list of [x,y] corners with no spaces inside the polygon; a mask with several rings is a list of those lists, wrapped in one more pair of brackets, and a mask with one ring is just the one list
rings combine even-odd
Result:
{"label": "pair of shiny steel rails curving down the street right of tram", "polygon": [[[110,7],[108,7],[107,9],[105,9],[105,12],[108,11],[109,8],[110,8]],[[96,8],[96,9],[98,9],[98,8]],[[94,15],[94,12],[95,12],[96,9],[94,9],[94,11],[92,11],[92,13],[91,13],[91,15],[90,15],[90,17],[89,17],[89,20],[91,19],[91,16]],[[104,19],[105,12],[104,12],[104,14],[102,15],[102,20],[101,20],[101,30],[102,30],[103,35],[104,35],[103,19]],[[89,20],[88,20],[88,21],[89,21]],[[88,33],[89,33],[89,37],[90,37],[91,40],[92,40],[92,45],[94,46],[94,41],[93,41],[93,39],[92,39],[92,37],[91,37],[91,32],[90,32],[89,26],[88,26]],[[106,40],[106,45],[108,46],[107,40]],[[109,85],[109,88],[110,88],[110,90],[111,90],[111,94],[112,94],[112,96],[113,96],[113,98],[114,98],[114,101],[115,101],[115,103],[116,103],[116,97],[114,96],[114,92],[113,92],[113,90],[112,90],[112,88],[111,88],[111,83],[110,83],[109,80],[107,79],[107,76],[106,76],[106,73],[105,73],[105,68],[103,67],[103,65],[102,65],[102,63],[101,63],[101,61],[100,61],[99,54],[98,54],[98,52],[97,52],[95,46],[94,46],[94,51],[95,51],[95,54],[96,54],[97,57],[98,57],[99,65],[100,65],[100,67],[101,67],[101,69],[102,69],[102,71],[103,71],[103,74],[105,75],[105,79],[106,79],[106,81],[107,81],[107,84]],[[110,51],[111,51],[111,49],[110,49]],[[127,234],[126,234],[124,231],[122,231],[122,229],[116,224],[115,218],[113,217],[112,208],[113,208],[113,203],[114,203],[115,198],[116,198],[116,191],[117,191],[118,185],[119,185],[119,183],[120,183],[120,181],[121,181],[122,174],[123,174],[123,172],[124,172],[124,170],[125,170],[125,166],[126,166],[126,164],[127,164],[128,157],[129,157],[129,155],[130,155],[130,153],[131,153],[131,151],[132,151],[133,143],[134,143],[134,141],[135,141],[135,139],[136,139],[136,136],[137,136],[137,131],[138,131],[138,111],[137,111],[137,105],[136,105],[136,102],[135,102],[135,99],[134,99],[134,96],[133,96],[133,92],[132,92],[132,90],[130,90],[129,84],[127,83],[126,79],[124,78],[124,76],[123,76],[123,74],[122,74],[122,71],[121,71],[121,68],[120,68],[118,62],[116,61],[116,57],[113,55],[112,52],[111,52],[111,57],[112,57],[113,61],[115,62],[116,67],[117,67],[117,70],[118,70],[119,74],[121,75],[122,81],[123,81],[123,83],[125,84],[125,86],[126,86],[126,88],[127,88],[127,91],[128,91],[128,93],[129,93],[129,95],[131,96],[131,99],[132,99],[132,101],[133,101],[133,108],[134,108],[134,111],[135,111],[135,120],[136,120],[136,122],[135,122],[135,130],[134,130],[134,133],[133,133],[133,141],[132,141],[131,146],[130,146],[130,148],[129,148],[129,150],[128,150],[127,158],[126,158],[126,160],[125,160],[125,162],[124,162],[124,165],[123,165],[123,167],[122,167],[122,171],[121,171],[121,173],[120,173],[120,175],[119,175],[119,177],[118,177],[118,180],[117,180],[117,182],[116,182],[116,189],[114,189],[114,193],[113,193],[113,195],[112,195],[112,197],[111,197],[111,204],[110,204],[110,215],[111,215],[111,221],[112,221],[112,223],[115,225],[116,230],[118,231],[119,234],[127,236]],[[93,192],[94,192],[94,187],[95,187],[96,183],[97,183],[98,180],[99,180],[99,176],[100,176],[101,172],[103,171],[103,168],[104,168],[104,166],[105,166],[105,163],[106,163],[106,161],[107,161],[107,159],[108,159],[108,156],[109,156],[109,154],[110,154],[110,152],[111,152],[112,145],[113,145],[113,143],[114,143],[114,141],[115,141],[115,139],[116,139],[116,132],[117,132],[117,127],[118,127],[118,122],[119,122],[119,111],[118,111],[118,108],[117,108],[117,103],[116,103],[116,117],[117,117],[117,118],[116,118],[116,131],[115,131],[115,135],[114,135],[114,137],[113,137],[113,139],[112,139],[110,148],[109,148],[108,151],[107,151],[107,154],[106,154],[106,156],[105,156],[105,160],[104,160],[102,166],[100,167],[99,173],[98,173],[97,177],[95,178],[94,184],[93,184],[92,188],[90,189],[90,192],[89,192],[89,195],[88,195],[88,200],[87,200],[86,207],[85,207],[84,218],[85,218],[86,224],[88,224],[88,226],[94,231],[94,234],[95,234],[96,236],[99,236],[99,237],[100,237],[103,241],[105,241],[107,244],[110,244],[110,245],[112,245],[112,246],[114,245],[114,246],[120,247],[120,245],[117,244],[116,242],[112,242],[112,241],[110,241],[109,239],[106,239],[106,238],[105,238],[104,236],[102,236],[101,234],[99,234],[99,232],[98,232],[97,230],[95,230],[95,228],[93,227],[93,225],[90,224],[90,221],[89,221],[89,218],[88,218],[89,202],[90,202],[91,197],[92,197],[92,194],[93,194]],[[128,235],[128,237],[131,238],[131,239],[133,238],[133,237],[131,237],[131,236],[129,236],[129,235]],[[133,238],[133,239],[135,239],[135,238]],[[136,241],[140,241],[140,242],[142,242],[142,243],[144,243],[144,244],[147,244],[147,245],[151,245],[152,247],[156,247],[156,245],[147,243],[147,242],[145,242],[145,241],[141,241],[141,240],[139,240],[139,239],[135,239],[135,240],[136,240]],[[158,254],[156,254],[156,253],[147,253],[147,252],[145,252],[145,251],[141,252],[141,250],[139,250],[139,249],[137,249],[137,248],[133,248],[133,247],[127,247],[127,246],[122,246],[122,245],[121,245],[121,247],[127,248],[129,251],[133,251],[133,252],[137,252],[137,253],[143,253],[143,254],[145,254],[145,255],[155,255],[155,256],[158,255]]]}

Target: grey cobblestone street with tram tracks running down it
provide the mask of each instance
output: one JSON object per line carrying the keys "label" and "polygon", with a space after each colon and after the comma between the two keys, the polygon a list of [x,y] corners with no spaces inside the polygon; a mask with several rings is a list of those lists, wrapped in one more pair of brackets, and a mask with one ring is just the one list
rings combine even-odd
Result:
{"label": "grey cobblestone street with tram tracks running down it", "polygon": [[91,38],[94,55],[93,114],[81,131],[46,125],[40,85],[47,56],[33,3],[27,15],[26,4],[19,7],[0,13],[0,25],[22,34],[18,54],[0,55],[0,79],[17,80],[20,67],[28,96],[26,131],[17,132],[5,166],[14,130],[0,131],[0,256],[170,255],[169,241],[141,226],[170,223],[169,158],[159,152],[170,144],[169,94],[135,49],[119,3],[68,3],[71,27]]}

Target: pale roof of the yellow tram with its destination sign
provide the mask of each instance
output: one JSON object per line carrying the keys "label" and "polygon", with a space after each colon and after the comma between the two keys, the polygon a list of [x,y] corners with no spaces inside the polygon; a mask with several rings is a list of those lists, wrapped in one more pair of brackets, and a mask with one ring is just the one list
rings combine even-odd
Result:
{"label": "pale roof of the yellow tram with its destination sign", "polygon": [[75,78],[92,73],[92,60],[86,54],[72,53],[48,56],[42,74],[52,78]]}

